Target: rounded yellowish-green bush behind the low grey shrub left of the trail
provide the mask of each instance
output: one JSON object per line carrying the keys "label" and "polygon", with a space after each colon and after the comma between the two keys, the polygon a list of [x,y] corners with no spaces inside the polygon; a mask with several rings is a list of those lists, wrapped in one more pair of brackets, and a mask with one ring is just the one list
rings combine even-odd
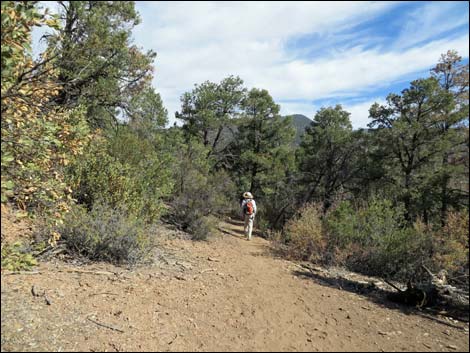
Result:
{"label": "rounded yellowish-green bush behind the low grey shrub left of the trail", "polygon": [[173,186],[168,158],[125,126],[108,140],[96,135],[69,167],[73,197],[89,209],[102,200],[153,222]]}

